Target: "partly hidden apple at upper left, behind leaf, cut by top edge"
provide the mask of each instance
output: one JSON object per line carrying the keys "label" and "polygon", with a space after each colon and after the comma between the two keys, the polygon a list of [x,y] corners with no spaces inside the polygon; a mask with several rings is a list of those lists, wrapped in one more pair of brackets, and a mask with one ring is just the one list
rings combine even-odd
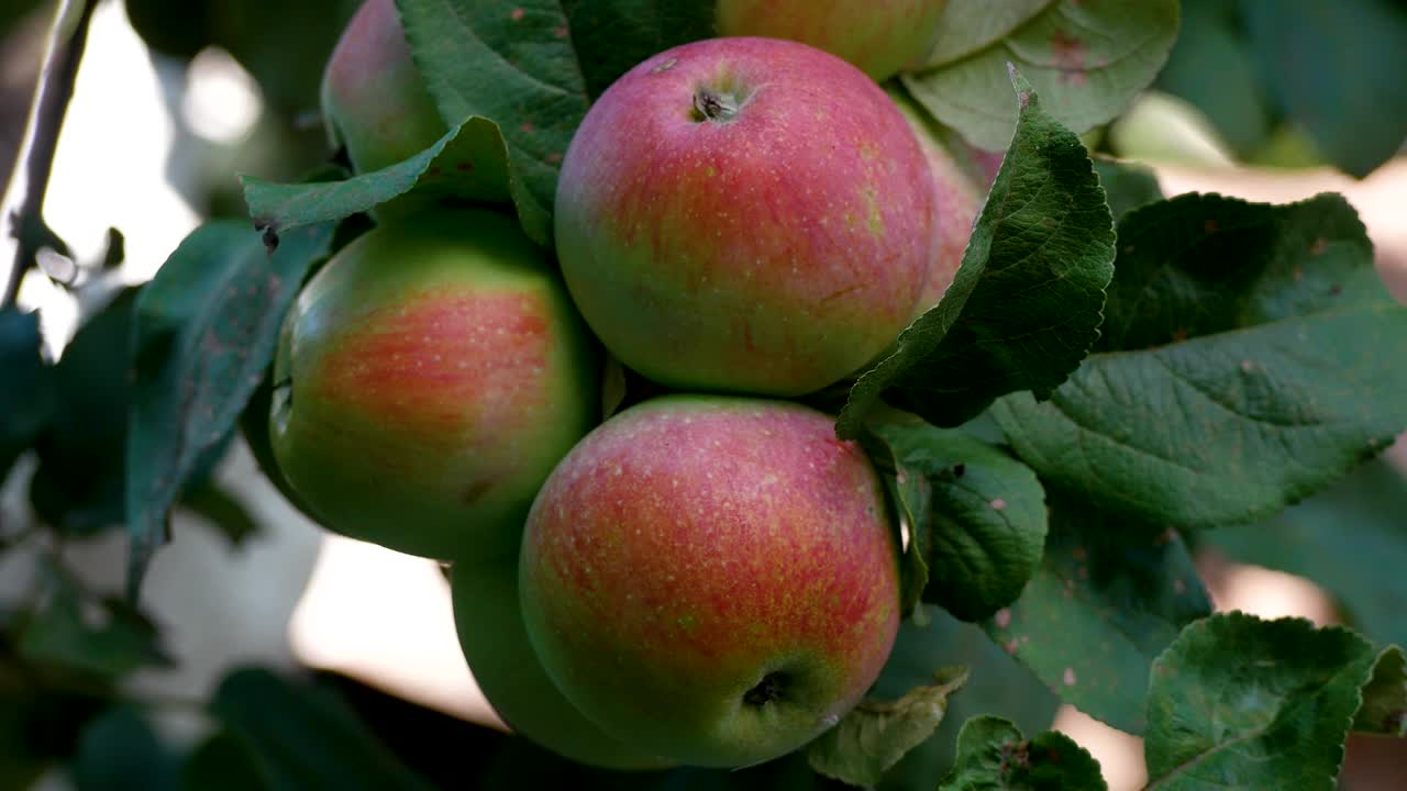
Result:
{"label": "partly hidden apple at upper left, behind leaf, cut by top edge", "polygon": [[348,23],[322,73],[322,115],[357,173],[414,156],[447,131],[393,0],[366,0]]}

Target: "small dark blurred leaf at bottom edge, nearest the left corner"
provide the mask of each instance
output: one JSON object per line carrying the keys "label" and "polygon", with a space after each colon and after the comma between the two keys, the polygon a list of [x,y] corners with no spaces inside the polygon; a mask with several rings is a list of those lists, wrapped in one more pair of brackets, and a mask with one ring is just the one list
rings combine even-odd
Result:
{"label": "small dark blurred leaf at bottom edge, nearest the left corner", "polygon": [[174,791],[176,757],[128,705],[89,722],[73,756],[77,791]]}

